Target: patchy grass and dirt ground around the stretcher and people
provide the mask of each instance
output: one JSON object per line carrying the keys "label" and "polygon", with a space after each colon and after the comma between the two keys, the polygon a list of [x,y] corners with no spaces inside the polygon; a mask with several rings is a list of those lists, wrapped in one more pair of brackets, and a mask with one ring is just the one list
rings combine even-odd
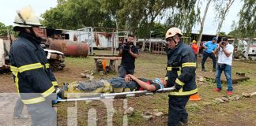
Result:
{"label": "patchy grass and dirt ground around the stretcher and people", "polygon": [[[96,51],[96,53],[109,53],[109,51]],[[199,58],[198,61],[201,59]],[[162,77],[165,75],[166,55],[141,53],[136,61],[135,76],[147,77],[154,79],[155,77]],[[212,61],[209,59],[206,62],[206,70],[212,68]],[[55,71],[58,84],[61,86],[64,82],[73,82],[76,80],[85,80],[81,78],[81,72],[85,70],[95,69],[94,61],[90,57],[66,57],[66,68],[62,71]],[[245,72],[250,80],[234,84],[234,95],[241,95],[243,92],[251,93],[256,91],[256,63],[254,61],[233,61],[232,73]],[[201,72],[201,64],[198,63],[197,74],[203,76],[205,73]],[[102,76],[99,73],[94,74],[95,79],[109,79],[113,76],[118,76],[116,73],[108,73]],[[199,102],[188,102],[187,112],[189,113],[189,125],[256,125],[256,97],[241,98],[239,101],[232,101],[223,104],[208,106],[206,102],[212,102],[215,98],[226,96],[226,85],[221,92],[214,92],[216,83],[204,81],[198,83],[199,95],[202,98]],[[12,75],[9,72],[0,74],[0,93],[16,92],[13,83]],[[131,116],[124,115],[124,102],[127,102],[127,107],[134,108],[134,114]],[[197,106],[194,106],[197,104]],[[192,106],[191,106],[192,105]],[[74,120],[77,125],[88,125],[88,122],[96,121],[97,125],[107,125],[107,109],[103,102],[62,102],[55,105],[58,109],[58,125],[70,124],[71,113],[68,109],[77,108],[77,120]],[[88,120],[88,111],[96,110],[96,120]],[[138,98],[116,99],[113,102],[112,124],[126,125],[124,118],[127,118],[128,125],[166,125],[168,122],[168,93],[141,96]],[[145,120],[141,117],[142,113],[149,111],[153,113],[154,110],[164,113],[164,116],[152,117],[150,120]],[[70,111],[69,111],[70,112]],[[89,117],[90,117],[89,116]],[[89,123],[90,124],[90,123]],[[24,123],[24,125],[26,125]]]}

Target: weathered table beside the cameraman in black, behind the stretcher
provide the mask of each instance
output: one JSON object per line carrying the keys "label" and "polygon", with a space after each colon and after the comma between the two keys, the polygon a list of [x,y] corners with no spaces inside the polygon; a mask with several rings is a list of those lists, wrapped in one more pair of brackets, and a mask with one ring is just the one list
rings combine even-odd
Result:
{"label": "weathered table beside the cameraman in black, behind the stretcher", "polygon": [[119,72],[118,61],[122,59],[122,57],[92,57],[95,61],[96,72],[100,71],[99,60],[109,60],[109,68],[115,72]]}

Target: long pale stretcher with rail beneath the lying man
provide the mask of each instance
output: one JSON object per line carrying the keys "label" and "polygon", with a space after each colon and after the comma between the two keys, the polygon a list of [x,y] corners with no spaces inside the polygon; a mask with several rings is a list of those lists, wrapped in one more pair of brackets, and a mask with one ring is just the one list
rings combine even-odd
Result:
{"label": "long pale stretcher with rail beneath the lying man", "polygon": [[87,100],[99,100],[99,99],[107,99],[107,98],[127,98],[127,97],[138,97],[142,95],[153,95],[155,93],[164,93],[174,91],[175,87],[168,87],[159,89],[156,92],[150,91],[130,91],[130,92],[121,92],[121,93],[110,93],[110,94],[101,94],[96,97],[88,97],[88,98],[67,98],[67,99],[59,99],[58,102],[75,102],[75,101],[87,101]]}

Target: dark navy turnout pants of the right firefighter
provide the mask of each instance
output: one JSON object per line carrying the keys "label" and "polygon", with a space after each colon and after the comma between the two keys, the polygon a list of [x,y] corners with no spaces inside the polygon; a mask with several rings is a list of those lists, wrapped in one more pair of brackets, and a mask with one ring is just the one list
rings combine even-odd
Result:
{"label": "dark navy turnout pants of the right firefighter", "polygon": [[169,95],[168,126],[178,126],[180,122],[187,123],[186,102],[190,96]]}

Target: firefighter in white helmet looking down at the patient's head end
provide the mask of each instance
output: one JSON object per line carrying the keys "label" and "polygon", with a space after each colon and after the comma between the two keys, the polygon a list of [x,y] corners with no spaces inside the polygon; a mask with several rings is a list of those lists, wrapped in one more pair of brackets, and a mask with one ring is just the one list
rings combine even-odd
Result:
{"label": "firefighter in white helmet looking down at the patient's head end", "polygon": [[165,77],[168,87],[175,87],[169,94],[168,125],[187,124],[186,102],[198,92],[195,82],[196,63],[190,46],[181,41],[179,28],[170,28],[165,35],[168,43],[168,66]]}

